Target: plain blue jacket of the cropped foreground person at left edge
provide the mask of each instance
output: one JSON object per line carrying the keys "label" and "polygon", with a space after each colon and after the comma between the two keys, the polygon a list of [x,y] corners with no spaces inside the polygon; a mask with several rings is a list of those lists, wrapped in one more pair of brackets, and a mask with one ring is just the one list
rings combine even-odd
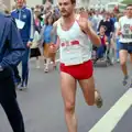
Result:
{"label": "plain blue jacket of the cropped foreground person at left edge", "polygon": [[0,66],[9,68],[18,65],[25,52],[15,22],[0,13]]}

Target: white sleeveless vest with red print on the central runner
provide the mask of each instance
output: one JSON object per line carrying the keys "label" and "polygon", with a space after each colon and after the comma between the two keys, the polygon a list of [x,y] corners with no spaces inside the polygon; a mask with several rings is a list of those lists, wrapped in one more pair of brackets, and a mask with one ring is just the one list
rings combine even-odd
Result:
{"label": "white sleeveless vest with red print on the central runner", "polygon": [[57,35],[61,41],[61,63],[70,66],[91,59],[92,45],[88,35],[82,33],[77,21],[68,31],[64,31],[61,22],[58,22]]}

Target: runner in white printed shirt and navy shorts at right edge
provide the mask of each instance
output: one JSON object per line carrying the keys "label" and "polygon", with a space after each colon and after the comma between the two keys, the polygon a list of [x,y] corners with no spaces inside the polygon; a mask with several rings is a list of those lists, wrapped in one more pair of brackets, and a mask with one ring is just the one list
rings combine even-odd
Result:
{"label": "runner in white printed shirt and navy shorts at right edge", "polygon": [[[118,35],[120,35],[120,65],[124,75],[123,85],[128,84],[127,59],[128,53],[132,62],[132,4],[127,7],[127,13],[119,20]],[[131,86],[132,87],[132,80]]]}

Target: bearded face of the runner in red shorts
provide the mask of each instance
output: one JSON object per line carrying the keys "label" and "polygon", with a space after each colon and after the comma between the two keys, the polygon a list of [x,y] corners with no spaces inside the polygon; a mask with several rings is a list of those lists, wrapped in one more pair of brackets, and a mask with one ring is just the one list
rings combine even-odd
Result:
{"label": "bearded face of the runner in red shorts", "polygon": [[58,0],[58,7],[61,14],[65,18],[69,16],[75,9],[75,4],[72,4],[70,0]]}

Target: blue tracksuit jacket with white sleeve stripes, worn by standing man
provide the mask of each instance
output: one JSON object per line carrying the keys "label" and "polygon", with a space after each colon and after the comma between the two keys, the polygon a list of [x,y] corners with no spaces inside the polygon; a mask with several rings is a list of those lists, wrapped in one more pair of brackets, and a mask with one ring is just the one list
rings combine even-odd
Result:
{"label": "blue tracksuit jacket with white sleeve stripes, worn by standing man", "polygon": [[25,25],[22,30],[20,30],[20,34],[22,37],[23,42],[29,42],[29,41],[33,41],[33,36],[34,36],[34,21],[33,21],[33,13],[32,10],[23,7],[21,10],[15,9],[11,12],[11,15],[14,19],[21,20],[23,22],[25,22]]}

